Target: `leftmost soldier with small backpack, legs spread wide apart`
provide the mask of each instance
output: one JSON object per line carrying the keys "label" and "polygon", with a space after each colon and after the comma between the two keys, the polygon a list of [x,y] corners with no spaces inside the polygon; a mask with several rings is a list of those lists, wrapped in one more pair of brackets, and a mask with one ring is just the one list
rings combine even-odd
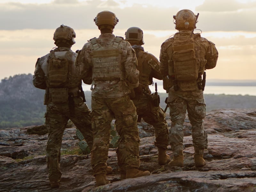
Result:
{"label": "leftmost soldier with small backpack, legs spread wide apart", "polygon": [[[60,146],[69,119],[92,149],[91,111],[84,103],[82,80],[75,73],[77,53],[70,49],[75,44],[75,37],[72,28],[63,24],[58,27],[53,35],[54,44],[58,47],[37,59],[33,76],[34,86],[45,90],[45,124],[48,130],[46,161],[52,188],[60,186]],[[108,167],[110,172],[112,168]]]}

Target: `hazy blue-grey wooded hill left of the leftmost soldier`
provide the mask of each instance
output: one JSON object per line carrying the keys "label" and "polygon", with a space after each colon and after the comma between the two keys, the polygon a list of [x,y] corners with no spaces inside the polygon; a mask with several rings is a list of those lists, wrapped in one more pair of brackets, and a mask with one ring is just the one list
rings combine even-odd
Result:
{"label": "hazy blue-grey wooded hill left of the leftmost soldier", "polygon": [[0,129],[44,124],[44,90],[34,87],[31,74],[2,79]]}

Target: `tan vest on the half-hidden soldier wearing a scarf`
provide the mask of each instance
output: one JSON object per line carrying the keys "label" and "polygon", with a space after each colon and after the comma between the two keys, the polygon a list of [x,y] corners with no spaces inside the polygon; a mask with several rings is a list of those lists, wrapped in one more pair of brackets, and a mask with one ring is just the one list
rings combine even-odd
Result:
{"label": "tan vest on the half-hidden soldier wearing a scarf", "polygon": [[139,82],[140,84],[148,86],[153,83],[153,79],[150,78],[149,62],[152,62],[147,52],[136,52],[138,66],[137,69],[140,71]]}

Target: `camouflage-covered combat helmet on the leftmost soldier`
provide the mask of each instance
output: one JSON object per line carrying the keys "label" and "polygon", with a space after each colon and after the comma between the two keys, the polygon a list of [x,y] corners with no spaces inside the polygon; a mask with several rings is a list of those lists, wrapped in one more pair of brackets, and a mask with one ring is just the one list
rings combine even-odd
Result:
{"label": "camouflage-covered combat helmet on the leftmost soldier", "polygon": [[60,27],[58,27],[53,34],[53,40],[55,41],[55,44],[56,41],[65,39],[70,45],[73,45],[76,43],[74,40],[75,37],[76,33],[74,29],[63,24],[60,25]]}

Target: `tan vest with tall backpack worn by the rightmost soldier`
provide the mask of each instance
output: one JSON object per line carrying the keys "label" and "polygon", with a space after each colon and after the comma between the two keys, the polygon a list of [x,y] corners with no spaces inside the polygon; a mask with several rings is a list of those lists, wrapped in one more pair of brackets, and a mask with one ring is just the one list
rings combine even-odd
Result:
{"label": "tan vest with tall backpack worn by the rightmost soldier", "polygon": [[184,37],[177,33],[173,37],[171,50],[168,51],[171,51],[168,74],[172,78],[172,84],[178,85],[178,90],[198,90],[198,79],[201,79],[206,64],[205,60],[200,58],[200,41],[199,34]]}

